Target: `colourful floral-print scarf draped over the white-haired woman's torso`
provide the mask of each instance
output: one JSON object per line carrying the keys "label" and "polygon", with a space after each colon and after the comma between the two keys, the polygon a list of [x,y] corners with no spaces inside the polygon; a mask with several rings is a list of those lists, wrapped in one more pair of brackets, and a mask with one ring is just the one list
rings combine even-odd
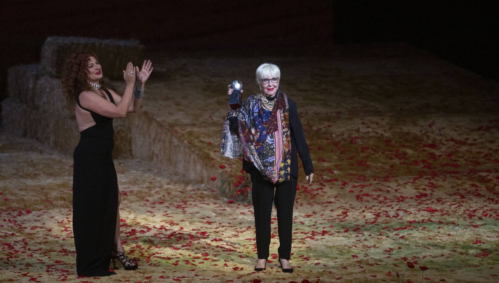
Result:
{"label": "colourful floral-print scarf draped over the white-haired woman's torso", "polygon": [[289,180],[291,138],[286,94],[276,95],[273,100],[261,93],[251,95],[238,109],[239,137],[230,133],[226,119],[220,152],[230,158],[243,155],[266,180],[280,183]]}

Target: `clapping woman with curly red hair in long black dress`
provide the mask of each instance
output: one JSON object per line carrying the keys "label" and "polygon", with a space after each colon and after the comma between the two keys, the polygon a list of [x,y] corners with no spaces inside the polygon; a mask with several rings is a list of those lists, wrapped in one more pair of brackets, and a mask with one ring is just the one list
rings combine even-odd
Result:
{"label": "clapping woman with curly red hair in long black dress", "polygon": [[[125,255],[120,239],[120,195],[112,152],[113,118],[137,112],[144,84],[153,70],[151,61],[142,69],[129,62],[123,70],[123,96],[104,86],[103,71],[92,52],[72,54],[66,61],[62,89],[75,101],[80,141],[73,153],[73,234],[78,276],[109,276],[111,259],[125,270],[138,265]],[[138,84],[134,85],[136,79]]]}

